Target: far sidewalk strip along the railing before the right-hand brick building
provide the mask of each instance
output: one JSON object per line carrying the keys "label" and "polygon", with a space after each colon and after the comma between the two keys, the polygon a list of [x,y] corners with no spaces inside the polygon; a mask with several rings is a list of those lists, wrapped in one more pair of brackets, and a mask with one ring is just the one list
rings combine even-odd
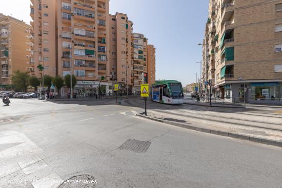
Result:
{"label": "far sidewalk strip along the railing before the right-hand brick building", "polygon": [[[197,105],[197,106],[204,106],[210,107],[210,102],[205,101],[196,101],[196,100],[185,100],[184,102],[186,105]],[[211,102],[212,107],[220,107],[220,108],[246,108],[246,107],[268,107],[268,108],[281,108],[282,106],[277,105],[256,105],[252,103],[231,103],[231,102]]]}

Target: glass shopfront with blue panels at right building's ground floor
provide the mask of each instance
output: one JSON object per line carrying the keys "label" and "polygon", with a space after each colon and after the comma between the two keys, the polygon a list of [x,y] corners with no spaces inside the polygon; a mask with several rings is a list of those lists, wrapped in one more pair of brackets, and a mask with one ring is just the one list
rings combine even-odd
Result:
{"label": "glass shopfront with blue panels at right building's ground floor", "polygon": [[251,98],[280,99],[282,87],[278,82],[251,83]]}

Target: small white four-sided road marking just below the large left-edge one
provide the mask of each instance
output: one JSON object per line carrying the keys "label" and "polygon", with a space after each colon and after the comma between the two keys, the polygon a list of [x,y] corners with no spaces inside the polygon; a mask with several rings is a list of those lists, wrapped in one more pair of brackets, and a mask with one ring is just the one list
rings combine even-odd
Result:
{"label": "small white four-sided road marking just below the large left-edge one", "polygon": [[38,156],[34,156],[30,159],[24,159],[17,162],[23,172],[28,175],[37,170],[44,169],[47,164]]}

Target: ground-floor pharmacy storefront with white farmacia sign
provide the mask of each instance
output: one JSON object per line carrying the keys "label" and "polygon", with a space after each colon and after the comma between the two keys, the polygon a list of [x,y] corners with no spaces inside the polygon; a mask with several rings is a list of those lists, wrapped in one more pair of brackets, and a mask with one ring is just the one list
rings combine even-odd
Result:
{"label": "ground-floor pharmacy storefront with white farmacia sign", "polygon": [[[73,92],[77,97],[93,97],[95,94],[98,94],[99,81],[87,81],[87,80],[78,80]],[[103,94],[112,93],[112,83],[111,82],[101,82],[100,88],[103,91]],[[104,88],[104,89],[103,89]]]}

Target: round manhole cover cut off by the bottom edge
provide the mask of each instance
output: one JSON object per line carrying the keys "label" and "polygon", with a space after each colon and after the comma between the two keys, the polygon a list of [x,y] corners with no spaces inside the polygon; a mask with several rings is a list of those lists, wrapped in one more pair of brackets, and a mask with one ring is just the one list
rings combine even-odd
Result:
{"label": "round manhole cover cut off by the bottom edge", "polygon": [[68,180],[65,180],[58,188],[91,188],[95,187],[95,184],[97,181],[94,179],[93,176],[90,175],[78,175],[78,176],[73,176]]}

